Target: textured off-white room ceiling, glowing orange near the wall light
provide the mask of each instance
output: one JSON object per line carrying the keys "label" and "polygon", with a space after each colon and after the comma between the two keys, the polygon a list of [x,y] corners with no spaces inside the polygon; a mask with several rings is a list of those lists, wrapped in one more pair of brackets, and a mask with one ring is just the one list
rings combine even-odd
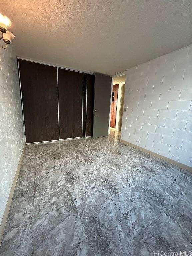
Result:
{"label": "textured off-white room ceiling, glowing orange near the wall light", "polygon": [[191,44],[191,1],[0,1],[17,56],[114,75]]}

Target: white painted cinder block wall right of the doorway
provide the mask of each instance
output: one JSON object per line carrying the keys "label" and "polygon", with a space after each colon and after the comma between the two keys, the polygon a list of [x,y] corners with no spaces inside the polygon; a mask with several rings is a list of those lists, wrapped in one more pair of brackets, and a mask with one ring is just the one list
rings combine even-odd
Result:
{"label": "white painted cinder block wall right of the doorway", "polygon": [[128,69],[121,139],[192,166],[191,99],[191,45]]}

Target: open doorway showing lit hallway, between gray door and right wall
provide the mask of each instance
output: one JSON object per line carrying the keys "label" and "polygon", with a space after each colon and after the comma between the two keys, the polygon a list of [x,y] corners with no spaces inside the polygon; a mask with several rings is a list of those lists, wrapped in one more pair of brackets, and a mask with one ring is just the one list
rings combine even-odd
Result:
{"label": "open doorway showing lit hallway, between gray door and right wall", "polygon": [[114,77],[112,82],[110,133],[116,133],[118,136],[120,136],[122,126],[125,80],[126,75],[121,75]]}

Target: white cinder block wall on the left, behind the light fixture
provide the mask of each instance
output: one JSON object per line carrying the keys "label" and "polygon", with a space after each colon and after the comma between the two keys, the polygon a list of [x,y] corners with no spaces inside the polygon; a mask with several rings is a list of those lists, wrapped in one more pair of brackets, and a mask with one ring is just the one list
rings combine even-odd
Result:
{"label": "white cinder block wall on the left, behind the light fixture", "polygon": [[0,48],[0,223],[25,144],[17,59]]}

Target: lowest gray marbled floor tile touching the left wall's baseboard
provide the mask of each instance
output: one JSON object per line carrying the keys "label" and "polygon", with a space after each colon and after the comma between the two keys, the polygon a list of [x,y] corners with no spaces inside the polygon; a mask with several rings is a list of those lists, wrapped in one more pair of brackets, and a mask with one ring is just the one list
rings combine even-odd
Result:
{"label": "lowest gray marbled floor tile touching the left wall's baseboard", "polygon": [[10,209],[0,255],[10,248],[13,248],[13,251],[17,250],[20,243],[32,239],[32,215],[33,201],[28,201]]}

